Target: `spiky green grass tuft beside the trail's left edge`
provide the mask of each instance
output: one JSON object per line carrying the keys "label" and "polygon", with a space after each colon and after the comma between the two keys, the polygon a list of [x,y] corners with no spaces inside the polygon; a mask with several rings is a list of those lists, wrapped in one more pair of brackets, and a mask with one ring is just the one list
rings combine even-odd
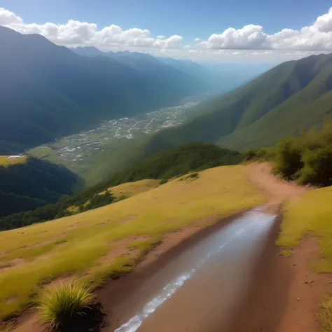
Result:
{"label": "spiky green grass tuft beside the trail's left edge", "polygon": [[50,322],[51,327],[57,329],[77,315],[84,315],[93,298],[91,288],[76,282],[59,282],[42,293],[38,309],[43,321]]}

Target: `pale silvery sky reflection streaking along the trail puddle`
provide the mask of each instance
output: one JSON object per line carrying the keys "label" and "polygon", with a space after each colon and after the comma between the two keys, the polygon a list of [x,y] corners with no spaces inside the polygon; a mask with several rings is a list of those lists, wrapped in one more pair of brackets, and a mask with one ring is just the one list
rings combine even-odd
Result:
{"label": "pale silvery sky reflection streaking along the trail puddle", "polygon": [[[253,244],[260,240],[270,230],[275,215],[261,212],[256,208],[245,213],[240,218],[199,242],[193,249],[181,256],[184,266],[183,273],[167,284],[155,298],[144,305],[140,312],[129,321],[116,329],[115,332],[135,332],[155,310],[183,286],[191,277],[197,274],[204,265],[211,261],[221,261],[224,268],[228,268],[232,261],[230,257],[233,251],[241,251],[247,260],[248,254],[254,255]],[[237,264],[241,264],[237,261]],[[234,264],[234,263],[233,263]],[[232,280],[233,281],[233,280]]]}

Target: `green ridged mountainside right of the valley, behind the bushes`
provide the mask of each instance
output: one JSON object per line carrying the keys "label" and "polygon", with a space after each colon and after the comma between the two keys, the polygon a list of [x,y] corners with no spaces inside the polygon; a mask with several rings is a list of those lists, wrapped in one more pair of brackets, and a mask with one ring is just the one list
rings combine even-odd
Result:
{"label": "green ridged mountainside right of the valley, behind the bushes", "polygon": [[188,141],[242,151],[271,146],[286,135],[320,125],[332,114],[331,77],[332,55],[284,62],[241,88],[200,104],[200,116],[158,132],[146,148],[160,151]]}

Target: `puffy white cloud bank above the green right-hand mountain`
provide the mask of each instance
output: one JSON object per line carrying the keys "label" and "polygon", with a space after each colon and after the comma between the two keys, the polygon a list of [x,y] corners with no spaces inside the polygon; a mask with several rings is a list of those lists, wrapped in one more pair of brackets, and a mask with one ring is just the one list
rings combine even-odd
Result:
{"label": "puffy white cloud bank above the green right-hand mountain", "polygon": [[283,29],[265,34],[260,25],[245,25],[241,29],[228,28],[212,34],[198,46],[216,49],[261,50],[332,50],[332,8],[319,16],[314,24],[300,30]]}

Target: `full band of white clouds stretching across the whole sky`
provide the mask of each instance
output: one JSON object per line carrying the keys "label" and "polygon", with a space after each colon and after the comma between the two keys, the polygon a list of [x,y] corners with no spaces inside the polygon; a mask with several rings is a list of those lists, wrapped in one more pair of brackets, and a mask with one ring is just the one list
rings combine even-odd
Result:
{"label": "full band of white clouds stretching across the whole sky", "polygon": [[153,55],[191,57],[193,60],[268,60],[281,62],[332,50],[332,8],[312,25],[266,34],[260,25],[229,27],[208,39],[185,42],[182,36],[154,37],[147,29],[124,30],[118,25],[102,29],[94,23],[69,20],[65,24],[26,23],[11,11],[0,8],[0,25],[22,34],[41,34],[58,45],[95,46],[101,50],[134,50]]}

